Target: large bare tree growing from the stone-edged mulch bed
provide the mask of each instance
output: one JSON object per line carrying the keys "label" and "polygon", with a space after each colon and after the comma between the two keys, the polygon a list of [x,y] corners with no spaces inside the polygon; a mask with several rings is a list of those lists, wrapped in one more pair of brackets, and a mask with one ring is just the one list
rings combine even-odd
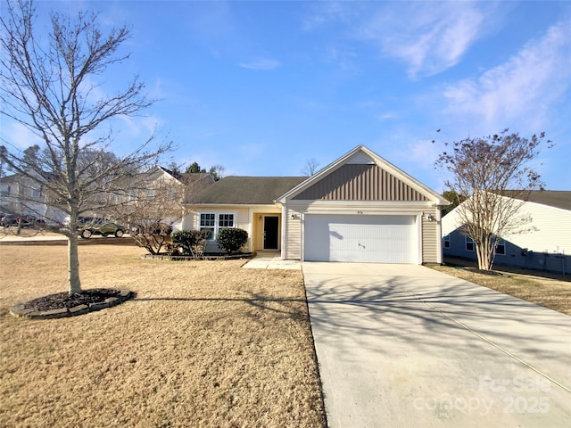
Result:
{"label": "large bare tree growing from the stone-edged mulch bed", "polygon": [[51,12],[50,18],[49,29],[40,33],[33,1],[7,1],[3,7],[1,113],[41,144],[30,158],[16,142],[3,141],[0,155],[6,168],[35,181],[68,216],[62,232],[74,294],[81,292],[79,215],[123,203],[125,186],[136,184],[170,144],[155,144],[152,135],[126,156],[109,156],[113,119],[137,115],[153,103],[137,77],[112,94],[103,88],[106,73],[128,58],[120,47],[129,31],[103,30],[94,12],[75,18]]}

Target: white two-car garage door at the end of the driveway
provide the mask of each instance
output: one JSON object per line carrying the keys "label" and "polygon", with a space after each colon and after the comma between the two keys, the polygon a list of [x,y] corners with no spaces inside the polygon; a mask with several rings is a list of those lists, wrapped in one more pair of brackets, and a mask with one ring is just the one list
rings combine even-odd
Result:
{"label": "white two-car garage door at the end of the driveway", "polygon": [[416,263],[414,216],[306,215],[304,259]]}

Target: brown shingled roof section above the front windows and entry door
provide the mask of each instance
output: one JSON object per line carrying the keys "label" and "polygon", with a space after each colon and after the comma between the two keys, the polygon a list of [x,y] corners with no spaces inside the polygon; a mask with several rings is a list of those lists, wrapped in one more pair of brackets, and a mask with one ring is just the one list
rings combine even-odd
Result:
{"label": "brown shingled roof section above the front windows and entry door", "polygon": [[193,204],[273,204],[307,177],[224,177],[186,202]]}

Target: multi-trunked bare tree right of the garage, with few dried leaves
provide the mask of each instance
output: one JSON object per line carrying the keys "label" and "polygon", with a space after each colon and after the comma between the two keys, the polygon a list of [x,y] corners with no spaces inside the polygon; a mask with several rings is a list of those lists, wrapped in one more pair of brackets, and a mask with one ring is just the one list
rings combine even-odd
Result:
{"label": "multi-trunked bare tree right of the garage, with few dried leaves", "polygon": [[[447,169],[451,191],[469,195],[458,201],[459,226],[476,244],[478,268],[491,270],[496,247],[502,236],[525,233],[534,227],[521,207],[531,190],[543,188],[540,175],[531,162],[540,154],[544,134],[525,138],[500,134],[466,138],[451,144],[435,162]],[[547,141],[548,148],[552,145]],[[461,202],[461,203],[460,203]]]}

